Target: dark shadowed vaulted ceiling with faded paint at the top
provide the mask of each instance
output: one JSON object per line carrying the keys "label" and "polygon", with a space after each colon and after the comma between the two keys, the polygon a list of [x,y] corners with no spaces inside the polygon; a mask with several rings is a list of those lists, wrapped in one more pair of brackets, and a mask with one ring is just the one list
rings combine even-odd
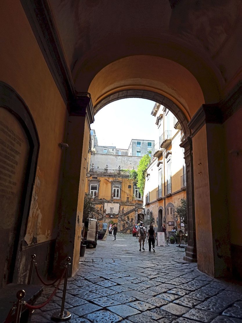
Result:
{"label": "dark shadowed vaulted ceiling with faded paint at the top", "polygon": [[218,102],[241,73],[241,0],[49,3],[77,91],[88,91],[100,71],[130,56],[166,58],[186,68],[205,103]]}

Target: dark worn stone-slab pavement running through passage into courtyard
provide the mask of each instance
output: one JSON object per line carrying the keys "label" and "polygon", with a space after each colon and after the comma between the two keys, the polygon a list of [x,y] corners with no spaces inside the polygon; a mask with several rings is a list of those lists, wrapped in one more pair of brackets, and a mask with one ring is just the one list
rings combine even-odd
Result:
{"label": "dark worn stone-slab pavement running through passage into courtyard", "polygon": [[[176,245],[156,247],[155,253],[148,244],[145,249],[140,252],[137,239],[123,234],[86,249],[67,286],[68,322],[242,323],[241,286],[199,272],[196,264],[183,261],[184,249]],[[52,291],[45,288],[38,302]],[[32,322],[52,322],[61,297],[59,291],[51,303],[34,311]]]}

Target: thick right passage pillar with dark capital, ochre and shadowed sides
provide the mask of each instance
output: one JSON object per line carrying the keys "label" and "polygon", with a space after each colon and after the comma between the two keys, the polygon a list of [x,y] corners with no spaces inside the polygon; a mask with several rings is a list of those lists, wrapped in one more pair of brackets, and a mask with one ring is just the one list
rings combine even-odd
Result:
{"label": "thick right passage pillar with dark capital, ochre and shadowed sides", "polygon": [[202,105],[192,130],[198,269],[215,277],[231,275],[224,130],[216,105]]}

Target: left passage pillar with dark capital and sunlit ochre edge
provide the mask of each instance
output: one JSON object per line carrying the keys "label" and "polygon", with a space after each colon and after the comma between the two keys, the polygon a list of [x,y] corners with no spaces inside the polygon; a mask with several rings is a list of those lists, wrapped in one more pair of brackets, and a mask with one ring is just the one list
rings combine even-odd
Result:
{"label": "left passage pillar with dark capital and sunlit ochre edge", "polygon": [[72,259],[69,274],[74,274],[78,268],[90,123],[93,122],[92,109],[91,99],[80,96],[70,110],[66,139],[68,148],[65,151],[59,206],[56,273],[67,256]]}

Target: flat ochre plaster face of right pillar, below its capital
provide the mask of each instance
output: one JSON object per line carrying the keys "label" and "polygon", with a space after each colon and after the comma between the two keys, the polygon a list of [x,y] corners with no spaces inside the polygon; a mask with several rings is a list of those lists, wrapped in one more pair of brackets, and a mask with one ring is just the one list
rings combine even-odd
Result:
{"label": "flat ochre plaster face of right pillar, below its capital", "polygon": [[206,125],[192,139],[198,269],[214,276]]}

